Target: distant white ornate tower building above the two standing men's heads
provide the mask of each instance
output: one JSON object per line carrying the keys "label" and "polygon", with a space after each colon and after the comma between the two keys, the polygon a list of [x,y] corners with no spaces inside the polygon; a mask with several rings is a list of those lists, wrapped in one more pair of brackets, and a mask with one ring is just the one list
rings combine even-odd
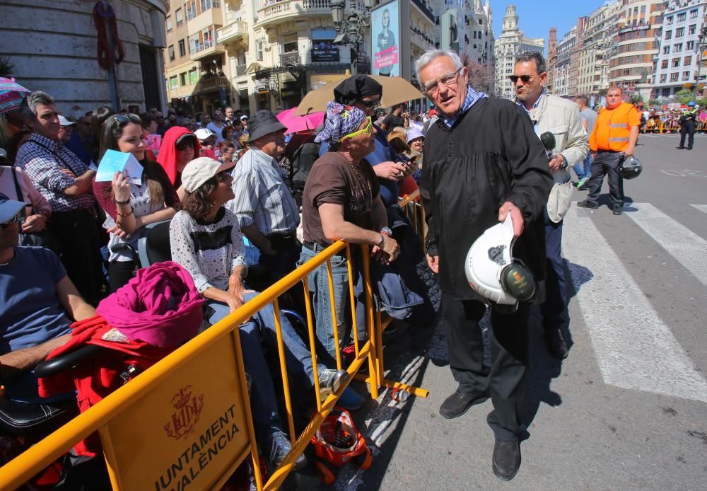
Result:
{"label": "distant white ornate tower building above the two standing men's heads", "polygon": [[522,30],[518,28],[518,15],[515,13],[515,5],[508,5],[506,7],[506,16],[503,17],[503,30],[494,42],[496,96],[507,99],[515,97],[513,83],[508,79],[508,76],[513,74],[515,57],[526,51],[543,53],[544,49],[544,38],[532,39],[523,35]]}

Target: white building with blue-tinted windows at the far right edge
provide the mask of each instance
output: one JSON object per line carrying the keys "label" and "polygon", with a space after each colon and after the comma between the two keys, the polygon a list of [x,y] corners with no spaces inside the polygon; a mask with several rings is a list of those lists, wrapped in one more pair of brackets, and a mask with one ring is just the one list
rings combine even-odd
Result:
{"label": "white building with blue-tinted windows at the far right edge", "polygon": [[[695,83],[700,59],[701,29],[707,23],[707,0],[672,0],[663,13],[660,52],[653,77],[653,98],[670,98]],[[707,70],[702,69],[700,82]]]}

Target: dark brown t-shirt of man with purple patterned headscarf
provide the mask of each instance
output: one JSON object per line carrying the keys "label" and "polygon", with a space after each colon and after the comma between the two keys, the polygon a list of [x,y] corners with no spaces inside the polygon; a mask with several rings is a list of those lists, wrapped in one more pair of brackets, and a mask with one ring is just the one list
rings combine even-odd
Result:
{"label": "dark brown t-shirt of man with purple patterned headscarf", "polygon": [[[354,166],[356,171],[354,171]],[[373,199],[378,196],[378,178],[365,159],[351,164],[345,156],[329,151],[312,166],[302,196],[302,226],[305,242],[331,245],[322,229],[321,204],[341,204],[344,220],[371,229]]]}

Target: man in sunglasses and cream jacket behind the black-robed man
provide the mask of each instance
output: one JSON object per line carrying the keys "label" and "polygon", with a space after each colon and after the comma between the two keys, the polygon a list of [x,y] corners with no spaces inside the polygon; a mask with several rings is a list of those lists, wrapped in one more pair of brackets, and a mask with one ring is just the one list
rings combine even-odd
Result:
{"label": "man in sunglasses and cream jacket behind the black-robed man", "polygon": [[552,356],[563,359],[568,351],[561,330],[566,328],[569,316],[562,260],[562,219],[572,193],[569,168],[584,161],[589,153],[589,143],[578,105],[545,93],[546,79],[545,60],[539,52],[526,52],[515,59],[510,81],[515,84],[516,103],[530,116],[538,135],[551,132],[555,139],[554,149],[549,149],[554,186],[544,212],[547,279],[540,313],[545,346]]}

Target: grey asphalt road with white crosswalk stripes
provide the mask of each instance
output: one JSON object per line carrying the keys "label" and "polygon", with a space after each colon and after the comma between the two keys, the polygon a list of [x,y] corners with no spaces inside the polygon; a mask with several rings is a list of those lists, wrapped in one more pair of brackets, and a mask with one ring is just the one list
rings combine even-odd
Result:
{"label": "grey asphalt road with white crosswalk stripes", "polygon": [[626,182],[622,216],[607,206],[566,216],[571,352],[549,357],[533,317],[530,438],[515,479],[491,470],[490,401],[456,420],[438,415],[456,388],[438,326],[387,343],[387,378],[430,395],[367,403],[356,419],[373,466],[345,467],[336,489],[707,488],[707,137],[693,151],[677,141],[640,137],[644,171]]}

